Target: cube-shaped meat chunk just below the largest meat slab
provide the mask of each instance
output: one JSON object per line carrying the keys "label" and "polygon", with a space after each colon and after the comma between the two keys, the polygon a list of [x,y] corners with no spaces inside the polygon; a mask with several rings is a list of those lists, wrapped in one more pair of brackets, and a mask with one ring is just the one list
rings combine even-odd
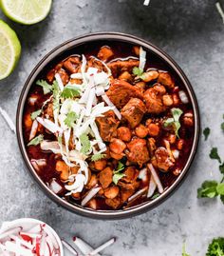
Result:
{"label": "cube-shaped meat chunk just below the largest meat slab", "polygon": [[144,103],[138,98],[132,98],[121,109],[121,115],[129,123],[131,128],[136,128],[146,112]]}

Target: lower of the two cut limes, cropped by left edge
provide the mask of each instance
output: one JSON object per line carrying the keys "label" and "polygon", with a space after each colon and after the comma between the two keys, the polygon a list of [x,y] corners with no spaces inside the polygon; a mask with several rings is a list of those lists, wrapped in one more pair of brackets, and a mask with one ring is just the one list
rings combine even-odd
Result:
{"label": "lower of the two cut limes, cropped by left edge", "polygon": [[0,80],[15,68],[21,52],[19,39],[9,25],[0,20]]}

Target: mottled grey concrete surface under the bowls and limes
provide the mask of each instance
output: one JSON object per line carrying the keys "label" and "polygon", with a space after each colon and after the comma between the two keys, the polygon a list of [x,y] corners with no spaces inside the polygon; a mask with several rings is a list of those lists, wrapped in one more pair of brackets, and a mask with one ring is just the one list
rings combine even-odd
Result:
{"label": "mottled grey concrete surface under the bowls and limes", "polygon": [[[222,235],[224,206],[219,200],[197,200],[196,188],[218,178],[209,158],[216,146],[224,157],[220,130],[224,98],[224,25],[215,0],[55,0],[47,19],[25,27],[0,18],[17,31],[23,54],[17,69],[0,82],[0,106],[11,118],[28,73],[49,51],[84,33],[114,30],[140,36],[167,51],[185,71],[196,91],[202,128],[212,134],[200,141],[191,173],[177,192],[158,208],[122,221],[96,221],[56,206],[29,177],[15,135],[0,116],[0,222],[35,217],[53,226],[70,241],[76,234],[93,246],[117,236],[109,255],[179,256],[186,240],[189,253],[204,255],[209,241]],[[212,177],[213,176],[213,177]]]}

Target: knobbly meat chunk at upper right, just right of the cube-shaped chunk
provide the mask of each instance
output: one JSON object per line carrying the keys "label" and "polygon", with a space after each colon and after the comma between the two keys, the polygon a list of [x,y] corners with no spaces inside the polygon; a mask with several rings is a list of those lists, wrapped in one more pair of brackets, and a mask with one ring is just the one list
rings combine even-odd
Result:
{"label": "knobbly meat chunk at upper right, just right of the cube-shaped chunk", "polygon": [[166,110],[163,105],[162,95],[166,93],[166,89],[160,84],[156,84],[153,88],[144,92],[144,100],[148,113],[159,114]]}

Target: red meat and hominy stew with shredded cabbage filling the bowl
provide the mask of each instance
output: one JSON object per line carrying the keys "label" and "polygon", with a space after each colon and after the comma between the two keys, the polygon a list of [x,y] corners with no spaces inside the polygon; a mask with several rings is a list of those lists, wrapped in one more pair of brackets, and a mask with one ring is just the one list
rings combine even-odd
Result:
{"label": "red meat and hominy stew with shredded cabbage filling the bowl", "polygon": [[23,128],[47,187],[94,210],[159,197],[181,173],[195,133],[172,69],[139,46],[111,42],[76,49],[45,71],[29,91]]}

